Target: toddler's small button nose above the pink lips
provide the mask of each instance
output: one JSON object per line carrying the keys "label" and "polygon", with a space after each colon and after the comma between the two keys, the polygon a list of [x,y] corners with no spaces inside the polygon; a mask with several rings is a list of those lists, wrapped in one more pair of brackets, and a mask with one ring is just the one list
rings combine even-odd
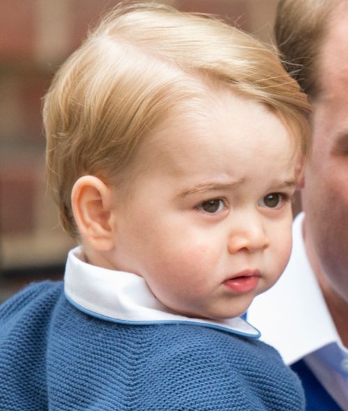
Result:
{"label": "toddler's small button nose above the pink lips", "polygon": [[244,218],[238,227],[232,227],[228,238],[228,252],[236,254],[244,250],[256,252],[269,246],[269,238],[261,218]]}

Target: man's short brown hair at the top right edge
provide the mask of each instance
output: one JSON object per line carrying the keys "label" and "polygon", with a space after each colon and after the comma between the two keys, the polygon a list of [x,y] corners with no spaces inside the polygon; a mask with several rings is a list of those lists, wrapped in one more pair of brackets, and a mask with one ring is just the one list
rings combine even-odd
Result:
{"label": "man's short brown hair at the top right edge", "polygon": [[318,60],[338,0],[279,0],[274,33],[285,68],[311,99],[320,92]]}

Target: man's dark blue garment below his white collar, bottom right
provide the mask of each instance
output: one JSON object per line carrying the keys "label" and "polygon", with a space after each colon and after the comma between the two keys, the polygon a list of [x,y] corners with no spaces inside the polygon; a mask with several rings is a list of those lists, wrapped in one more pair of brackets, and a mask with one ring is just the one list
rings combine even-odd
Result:
{"label": "man's dark blue garment below his white collar, bottom right", "polygon": [[300,360],[292,364],[291,368],[302,381],[306,393],[306,411],[342,411],[342,408],[333,401],[326,389],[315,378],[306,362]]}

